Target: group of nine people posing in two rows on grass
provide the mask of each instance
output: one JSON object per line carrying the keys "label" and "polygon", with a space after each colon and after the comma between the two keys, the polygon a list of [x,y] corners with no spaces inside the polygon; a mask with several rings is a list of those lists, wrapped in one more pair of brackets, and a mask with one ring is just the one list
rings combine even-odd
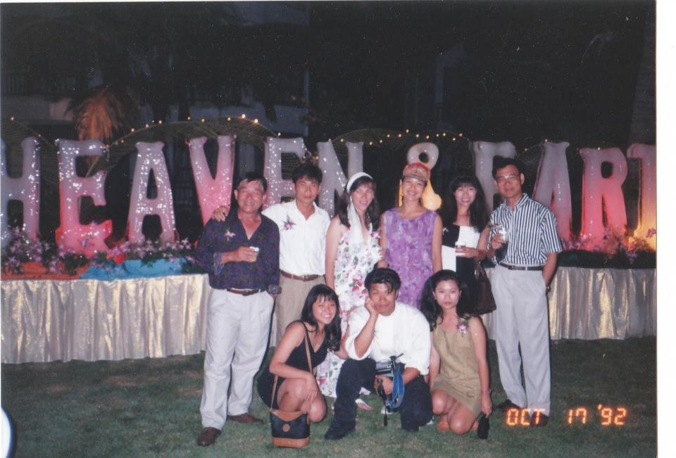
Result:
{"label": "group of nine people posing in two rows on grass", "polygon": [[[292,173],[293,201],[262,212],[267,182],[244,174],[232,208],[215,210],[197,246],[213,290],[198,444],[212,445],[227,420],[262,423],[249,405],[273,304],[277,348],[257,385],[266,405],[321,421],[325,396],[335,397],[325,438],[343,438],[355,429],[357,409],[373,408],[360,393],[392,395],[392,377],[376,367],[395,357],[405,388],[397,408],[402,428],[418,431],[434,414],[438,431],[470,431],[480,413],[492,412],[486,335],[472,313],[475,259],[484,257],[496,264],[496,341],[508,395],[498,407],[538,412],[532,424],[544,426],[546,285],[561,243],[551,211],[522,192],[520,163],[494,164],[505,203],[490,220],[473,175],[453,179],[439,213],[427,210],[421,197],[430,170],[423,163],[406,165],[401,205],[382,215],[375,180],[365,172],[350,177],[332,218],[315,205],[322,182],[316,165]],[[316,374],[308,371],[306,341]]]}

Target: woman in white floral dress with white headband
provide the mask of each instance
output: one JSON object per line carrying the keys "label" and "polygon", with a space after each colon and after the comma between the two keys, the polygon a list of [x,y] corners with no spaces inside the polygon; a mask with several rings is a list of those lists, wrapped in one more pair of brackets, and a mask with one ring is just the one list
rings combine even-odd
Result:
{"label": "woman in white floral dress with white headband", "polygon": [[[364,172],[353,174],[326,235],[326,284],[338,295],[343,336],[351,310],[364,305],[365,276],[382,258],[379,221],[373,178]],[[336,397],[338,374],[346,358],[347,352],[341,345],[339,351],[330,352],[317,367],[317,383],[324,395]]]}

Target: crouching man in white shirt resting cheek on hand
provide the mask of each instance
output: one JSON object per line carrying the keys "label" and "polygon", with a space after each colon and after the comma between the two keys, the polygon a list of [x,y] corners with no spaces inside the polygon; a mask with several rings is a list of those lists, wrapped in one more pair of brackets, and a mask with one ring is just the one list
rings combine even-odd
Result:
{"label": "crouching man in white shirt resting cheek on hand", "polygon": [[325,435],[337,440],[354,431],[356,405],[361,388],[376,390],[379,384],[392,394],[392,378],[376,375],[377,361],[395,356],[403,364],[401,427],[418,431],[432,419],[430,390],[423,378],[430,369],[430,324],[410,305],[396,302],[401,279],[392,269],[374,269],[364,281],[368,290],[364,307],[349,317],[345,347],[350,359],[340,369],[334,402],[334,419]]}

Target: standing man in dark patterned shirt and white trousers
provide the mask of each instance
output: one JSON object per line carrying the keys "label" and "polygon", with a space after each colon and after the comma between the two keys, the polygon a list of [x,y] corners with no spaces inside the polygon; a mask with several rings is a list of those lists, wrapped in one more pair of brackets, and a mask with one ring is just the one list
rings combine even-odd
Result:
{"label": "standing man in dark patterned shirt and white trousers", "polygon": [[261,174],[245,174],[234,191],[237,205],[225,221],[206,223],[197,246],[197,262],[212,288],[199,445],[212,445],[226,418],[263,423],[248,411],[279,293],[280,231],[260,212],[267,189]]}

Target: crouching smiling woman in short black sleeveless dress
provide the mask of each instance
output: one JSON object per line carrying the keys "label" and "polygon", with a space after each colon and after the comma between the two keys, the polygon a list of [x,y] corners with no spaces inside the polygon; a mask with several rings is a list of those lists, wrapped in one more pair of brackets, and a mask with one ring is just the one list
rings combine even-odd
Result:
{"label": "crouching smiling woman in short black sleeveless dress", "polygon": [[[308,412],[310,421],[318,422],[326,415],[326,402],[319,393],[314,374],[308,371],[304,337],[308,336],[313,369],[326,357],[327,350],[339,349],[340,317],[338,296],[326,285],[314,286],[303,305],[300,321],[289,324],[270,366],[258,377],[258,394],[265,405],[293,412]],[[274,405],[273,381],[277,380]]]}

